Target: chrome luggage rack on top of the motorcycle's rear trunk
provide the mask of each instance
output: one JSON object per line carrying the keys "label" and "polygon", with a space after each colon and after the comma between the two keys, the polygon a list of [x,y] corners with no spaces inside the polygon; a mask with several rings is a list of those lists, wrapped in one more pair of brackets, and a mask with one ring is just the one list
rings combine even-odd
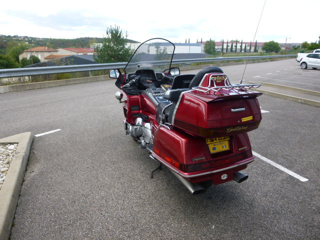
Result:
{"label": "chrome luggage rack on top of the motorcycle's rear trunk", "polygon": [[[212,79],[212,76],[225,76],[224,86],[216,86],[215,80]],[[214,85],[213,87],[211,87],[211,81],[213,81],[213,85]],[[194,86],[194,87],[192,87],[192,89],[197,90],[197,91],[202,91],[202,92],[208,92],[208,91],[213,90],[213,95],[215,95],[215,92],[220,91],[220,90],[232,90],[233,89],[233,90],[237,90],[237,91],[247,91],[251,88],[258,88],[259,86],[261,86],[260,83],[231,84],[227,75],[225,75],[224,73],[219,73],[219,74],[211,75],[208,86]]]}

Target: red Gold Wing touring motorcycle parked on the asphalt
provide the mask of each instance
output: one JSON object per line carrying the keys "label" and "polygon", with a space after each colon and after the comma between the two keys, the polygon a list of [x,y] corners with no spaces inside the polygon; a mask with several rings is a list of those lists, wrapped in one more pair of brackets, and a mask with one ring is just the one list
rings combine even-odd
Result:
{"label": "red Gold Wing touring motorcycle parked on the asphalt", "polygon": [[[253,161],[247,132],[261,121],[260,84],[231,84],[219,67],[180,74],[171,67],[175,46],[163,38],[139,45],[124,68],[111,69],[121,89],[125,134],[165,165],[192,193],[212,183],[242,182]],[[124,97],[124,100],[122,101]]]}

